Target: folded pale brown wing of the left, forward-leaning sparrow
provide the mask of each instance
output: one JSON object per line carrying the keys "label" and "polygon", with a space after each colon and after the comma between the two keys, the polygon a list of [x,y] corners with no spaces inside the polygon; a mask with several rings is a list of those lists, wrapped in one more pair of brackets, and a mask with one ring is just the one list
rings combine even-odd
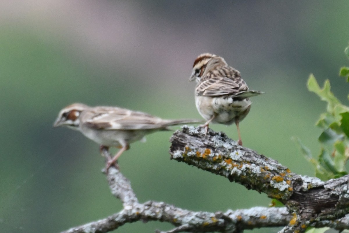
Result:
{"label": "folded pale brown wing of the left, forward-leaning sparrow", "polygon": [[162,128],[161,118],[122,108],[104,107],[90,111],[86,124],[94,129],[141,130]]}

